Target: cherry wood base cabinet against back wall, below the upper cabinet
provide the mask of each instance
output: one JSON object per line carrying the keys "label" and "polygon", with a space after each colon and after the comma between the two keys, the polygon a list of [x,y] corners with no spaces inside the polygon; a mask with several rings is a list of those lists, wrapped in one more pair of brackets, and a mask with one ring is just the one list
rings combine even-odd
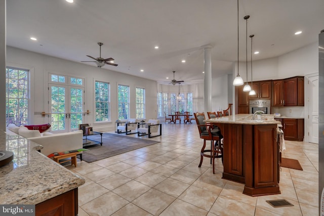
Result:
{"label": "cherry wood base cabinet against back wall, below the upper cabinet", "polygon": [[275,118],[281,121],[282,131],[285,140],[303,141],[304,140],[304,119],[303,118]]}

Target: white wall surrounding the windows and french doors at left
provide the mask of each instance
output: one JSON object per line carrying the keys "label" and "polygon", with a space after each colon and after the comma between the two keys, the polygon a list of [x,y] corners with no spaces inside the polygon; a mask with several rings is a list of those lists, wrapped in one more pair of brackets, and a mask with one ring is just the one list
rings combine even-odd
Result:
{"label": "white wall surrounding the windows and french doors at left", "polygon": [[[145,88],[146,94],[146,118],[156,118],[156,82],[145,78],[131,76],[124,73],[71,62],[51,56],[37,54],[13,47],[7,47],[7,64],[21,67],[33,68],[33,93],[34,100],[31,101],[34,110],[31,110],[30,119],[33,124],[47,123],[48,117],[39,115],[41,112],[48,112],[48,73],[58,73],[63,75],[73,75],[86,78],[85,110],[91,113],[85,116],[85,123],[93,125],[98,131],[113,129],[114,121],[117,119],[117,85],[124,84],[130,86],[130,117],[135,118],[135,88]],[[110,66],[111,67],[111,66]],[[110,83],[111,90],[111,122],[94,123],[94,80],[106,81]]]}

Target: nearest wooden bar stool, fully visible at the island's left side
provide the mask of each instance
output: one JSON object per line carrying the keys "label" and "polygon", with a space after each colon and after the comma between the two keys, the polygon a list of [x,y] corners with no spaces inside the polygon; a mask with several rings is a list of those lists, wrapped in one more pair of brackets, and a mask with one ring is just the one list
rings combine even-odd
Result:
{"label": "nearest wooden bar stool, fully visible at the island's left side", "polygon": [[[206,119],[204,112],[194,113],[194,117],[197,123],[199,136],[201,139],[204,139],[204,145],[200,150],[200,162],[198,167],[201,167],[201,164],[203,164],[204,157],[209,157],[211,158],[211,164],[213,164],[213,174],[215,174],[215,158],[222,158],[223,162],[223,147],[220,143],[223,136],[219,128],[215,128],[213,124],[206,124],[206,122],[204,122]],[[205,149],[206,141],[211,141],[211,149]],[[210,152],[210,154],[207,154],[207,152]]]}

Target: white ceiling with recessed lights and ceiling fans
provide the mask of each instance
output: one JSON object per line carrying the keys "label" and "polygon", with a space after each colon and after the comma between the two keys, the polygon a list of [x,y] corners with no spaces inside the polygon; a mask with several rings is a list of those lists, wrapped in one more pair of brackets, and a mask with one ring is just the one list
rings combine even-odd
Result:
{"label": "white ceiling with recessed lights and ceiling fans", "polygon": [[[240,61],[246,61],[244,16],[251,16],[248,35],[255,34],[253,47],[260,54],[253,59],[260,60],[317,41],[324,29],[323,9],[323,0],[240,0]],[[298,30],[303,33],[294,35]],[[104,44],[101,56],[118,64],[104,69],[166,83],[175,70],[177,80],[200,82],[206,45],[213,47],[213,76],[231,73],[237,60],[237,2],[7,0],[8,46],[80,62],[91,61],[86,55],[99,57],[97,42]],[[249,59],[250,42],[249,38]]]}

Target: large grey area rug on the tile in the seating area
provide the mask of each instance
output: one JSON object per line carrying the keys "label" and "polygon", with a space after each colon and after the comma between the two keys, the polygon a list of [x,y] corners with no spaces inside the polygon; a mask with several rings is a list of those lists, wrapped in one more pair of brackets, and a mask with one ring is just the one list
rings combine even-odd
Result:
{"label": "large grey area rug on the tile in the seating area", "polygon": [[[92,136],[91,140],[100,142],[100,136]],[[149,146],[155,143],[159,142],[134,137],[127,137],[123,135],[104,133],[102,134],[102,146],[93,145],[84,147],[86,149],[89,149],[90,151],[84,151],[82,154],[82,159],[90,163],[117,154],[143,148],[145,146]]]}

